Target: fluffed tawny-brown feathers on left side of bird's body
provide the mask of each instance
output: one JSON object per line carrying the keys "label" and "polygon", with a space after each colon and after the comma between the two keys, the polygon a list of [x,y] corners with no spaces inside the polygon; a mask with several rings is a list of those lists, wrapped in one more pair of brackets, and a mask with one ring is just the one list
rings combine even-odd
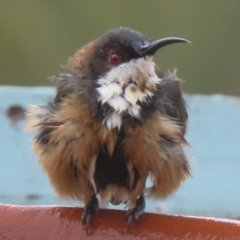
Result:
{"label": "fluffed tawny-brown feathers on left side of bird's body", "polygon": [[111,154],[117,134],[80,101],[74,75],[64,74],[57,80],[55,100],[29,109],[27,129],[37,131],[33,149],[57,194],[87,203],[95,191],[99,146],[105,145]]}

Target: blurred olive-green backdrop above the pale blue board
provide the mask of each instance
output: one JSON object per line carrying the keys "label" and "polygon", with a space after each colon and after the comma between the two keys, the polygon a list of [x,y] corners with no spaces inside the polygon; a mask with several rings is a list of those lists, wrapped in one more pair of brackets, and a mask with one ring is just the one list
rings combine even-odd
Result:
{"label": "blurred olive-green backdrop above the pale blue board", "polygon": [[1,1],[0,84],[49,85],[83,44],[128,26],[150,39],[178,36],[156,55],[188,93],[240,93],[240,1]]}

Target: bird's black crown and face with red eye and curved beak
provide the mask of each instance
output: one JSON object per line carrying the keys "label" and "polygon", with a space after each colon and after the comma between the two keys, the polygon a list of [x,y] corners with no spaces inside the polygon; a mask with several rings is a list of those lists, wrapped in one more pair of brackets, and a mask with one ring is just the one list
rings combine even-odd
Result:
{"label": "bird's black crown and face with red eye and curved beak", "polygon": [[114,66],[132,59],[154,55],[161,47],[178,42],[188,42],[188,40],[174,37],[151,42],[149,38],[130,28],[111,29],[94,41],[89,70],[92,78],[99,78]]}

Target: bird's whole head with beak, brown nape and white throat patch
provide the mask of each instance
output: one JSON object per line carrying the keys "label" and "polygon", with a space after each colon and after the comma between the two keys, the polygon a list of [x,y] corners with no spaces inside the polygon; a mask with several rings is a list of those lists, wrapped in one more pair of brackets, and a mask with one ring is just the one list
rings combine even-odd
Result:
{"label": "bird's whole head with beak, brown nape and white throat patch", "polygon": [[161,82],[153,55],[180,42],[188,40],[170,37],[151,42],[135,30],[120,27],[78,50],[69,59],[68,70],[78,76],[90,109],[100,109],[108,128],[120,128],[126,115],[141,120],[140,103],[148,101]]}

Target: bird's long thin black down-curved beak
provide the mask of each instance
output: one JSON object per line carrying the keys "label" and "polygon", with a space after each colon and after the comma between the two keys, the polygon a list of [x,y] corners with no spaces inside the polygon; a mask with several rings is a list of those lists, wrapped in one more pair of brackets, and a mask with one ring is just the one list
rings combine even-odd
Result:
{"label": "bird's long thin black down-curved beak", "polygon": [[169,38],[162,38],[157,41],[154,41],[152,43],[149,43],[141,48],[141,54],[142,56],[147,56],[147,55],[154,55],[154,53],[162,48],[165,47],[169,44],[172,43],[191,43],[187,39],[184,38],[177,38],[177,37],[169,37]]}

